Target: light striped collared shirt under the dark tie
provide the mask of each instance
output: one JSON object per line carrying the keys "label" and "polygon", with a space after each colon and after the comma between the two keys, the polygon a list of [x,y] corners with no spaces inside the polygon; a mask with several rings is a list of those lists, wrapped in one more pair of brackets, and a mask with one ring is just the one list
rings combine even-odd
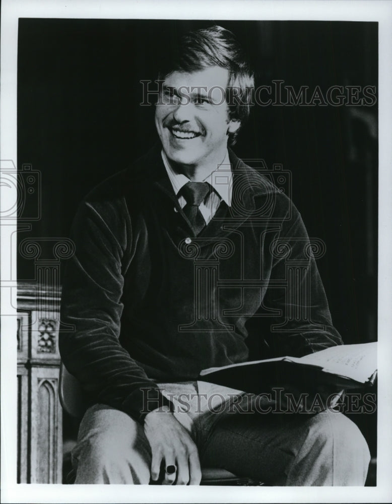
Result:
{"label": "light striped collared shirt under the dark tie", "polygon": [[[161,155],[163,164],[165,165],[170,182],[173,186],[174,193],[178,196],[181,188],[190,180],[183,173],[176,173],[173,170],[163,149]],[[204,202],[202,202],[199,206],[200,212],[203,215],[206,224],[208,224],[214,217],[215,212],[218,210],[218,207],[221,204],[222,200],[227,204],[227,206],[231,206],[233,173],[231,171],[229,153],[227,150],[222,163],[216,170],[210,173],[210,175],[208,175],[208,177],[206,177],[203,182],[208,182],[214,188],[214,191],[211,191],[207,195]],[[178,203],[180,204],[181,208],[184,208],[184,206],[186,205],[185,198],[179,195]]]}

